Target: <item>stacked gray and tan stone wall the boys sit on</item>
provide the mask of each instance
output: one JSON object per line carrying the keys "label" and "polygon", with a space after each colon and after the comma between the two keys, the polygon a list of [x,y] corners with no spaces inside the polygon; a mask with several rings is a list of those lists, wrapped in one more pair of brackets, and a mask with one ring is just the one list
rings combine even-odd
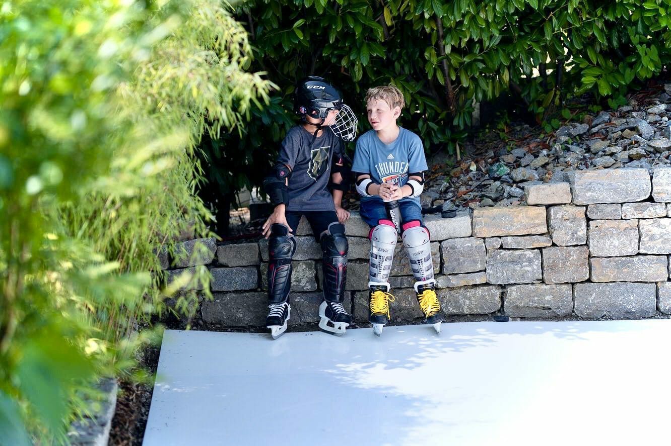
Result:
{"label": "stacked gray and tan stone wall the boys sit on", "polygon": [[[478,208],[454,218],[425,216],[437,295],[448,315],[641,318],[671,313],[671,167],[574,171],[568,181],[530,185],[533,206]],[[350,243],[346,307],[367,324],[368,226],[356,212],[346,224]],[[290,323],[319,320],[321,250],[309,225],[295,234]],[[208,265],[213,301],[202,323],[261,326],[267,312],[266,240],[215,246],[201,239],[200,256],[175,263]],[[183,242],[193,251],[196,240]],[[210,255],[211,254],[211,255]],[[162,264],[169,265],[162,252]],[[193,258],[196,257],[196,258]],[[401,242],[390,278],[393,321],[421,318]]]}

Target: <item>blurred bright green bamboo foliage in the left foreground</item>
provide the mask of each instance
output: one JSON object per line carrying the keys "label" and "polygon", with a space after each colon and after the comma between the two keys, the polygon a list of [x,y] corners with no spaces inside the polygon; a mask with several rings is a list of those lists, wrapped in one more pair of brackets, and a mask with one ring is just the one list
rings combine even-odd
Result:
{"label": "blurred bright green bamboo foliage in the left foreground", "polygon": [[156,248],[207,234],[193,155],[268,99],[250,55],[214,0],[0,7],[0,444],[66,443],[76,391],[155,334],[138,325],[193,309],[179,289],[207,270],[164,287]]}

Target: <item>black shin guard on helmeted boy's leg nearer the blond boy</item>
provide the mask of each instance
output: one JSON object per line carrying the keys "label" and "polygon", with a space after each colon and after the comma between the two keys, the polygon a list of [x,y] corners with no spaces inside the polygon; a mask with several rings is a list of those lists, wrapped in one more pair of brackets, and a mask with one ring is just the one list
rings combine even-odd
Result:
{"label": "black shin guard on helmeted boy's leg nearer the blond boy", "polygon": [[329,224],[327,231],[321,235],[325,301],[342,303],[345,300],[348,248],[345,226],[335,222]]}

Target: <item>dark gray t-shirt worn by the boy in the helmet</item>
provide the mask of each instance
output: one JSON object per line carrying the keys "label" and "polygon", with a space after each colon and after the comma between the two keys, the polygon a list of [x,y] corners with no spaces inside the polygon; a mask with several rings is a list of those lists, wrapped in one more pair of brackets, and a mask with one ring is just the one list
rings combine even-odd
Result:
{"label": "dark gray t-shirt worn by the boy in the helmet", "polygon": [[287,210],[335,210],[328,190],[334,156],[342,157],[342,143],[329,127],[323,127],[314,141],[312,133],[301,125],[289,129],[277,157],[278,163],[291,169]]}

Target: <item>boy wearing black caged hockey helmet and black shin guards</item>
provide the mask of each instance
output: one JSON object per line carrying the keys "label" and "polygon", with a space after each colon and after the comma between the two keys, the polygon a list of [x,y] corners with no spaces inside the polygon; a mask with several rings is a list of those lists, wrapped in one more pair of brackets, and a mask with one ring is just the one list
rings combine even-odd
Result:
{"label": "boy wearing black caged hockey helmet and black shin guards", "polygon": [[340,92],[317,76],[299,84],[294,111],[301,124],[287,132],[273,172],[264,180],[275,206],[263,225],[263,234],[269,238],[266,326],[274,339],[287,329],[291,257],[296,250],[293,233],[305,215],[323,252],[324,301],[319,306],[319,327],[340,336],[350,324],[350,315],[342,306],[348,252],[343,223],[350,214],[341,206],[347,190],[341,139],[354,139],[356,118]]}

